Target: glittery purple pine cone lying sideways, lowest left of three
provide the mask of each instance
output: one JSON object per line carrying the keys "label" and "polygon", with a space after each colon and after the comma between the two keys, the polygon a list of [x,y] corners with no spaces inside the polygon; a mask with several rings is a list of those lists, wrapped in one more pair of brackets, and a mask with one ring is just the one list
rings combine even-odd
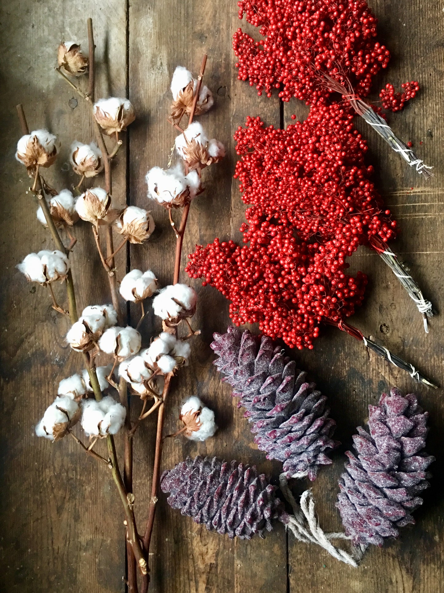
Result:
{"label": "glittery purple pine cone lying sideways, lowest left of three", "polygon": [[216,457],[187,457],[164,471],[161,489],[170,493],[168,504],[180,509],[182,515],[229,538],[264,537],[265,530],[271,531],[271,519],[288,522],[283,503],[276,497],[276,486],[269,484],[264,474],[258,475],[254,466],[237,461],[228,464]]}

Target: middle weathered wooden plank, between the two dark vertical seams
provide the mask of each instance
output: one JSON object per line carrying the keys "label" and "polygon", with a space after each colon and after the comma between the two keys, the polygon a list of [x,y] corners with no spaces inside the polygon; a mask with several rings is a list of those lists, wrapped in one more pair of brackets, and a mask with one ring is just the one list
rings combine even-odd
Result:
{"label": "middle weathered wooden plank, between the two dark vertical seams", "polygon": [[[175,132],[165,118],[171,102],[171,75],[177,65],[186,65],[197,74],[203,53],[209,58],[204,83],[215,94],[216,105],[200,121],[210,137],[225,144],[227,157],[204,171],[207,192],[190,209],[183,250],[186,255],[196,243],[206,244],[216,236],[239,238],[238,228],[244,218],[244,206],[237,183],[231,181],[236,155],[232,134],[244,125],[248,114],[258,113],[255,93],[237,81],[233,68],[231,37],[238,27],[232,2],[132,2],[130,5],[130,98],[136,111],[143,113],[143,123],[130,136],[131,203],[146,208],[146,170],[154,165],[165,167]],[[260,109],[269,121],[279,125],[278,106],[264,101]],[[173,275],[175,238],[162,208],[154,207],[158,239],[145,250],[131,248],[131,266],[152,267],[162,285]],[[177,216],[177,214],[176,214]],[[182,273],[181,279],[188,277]],[[188,280],[189,281],[189,280]],[[165,432],[177,429],[181,400],[198,394],[215,409],[220,426],[218,436],[206,444],[193,444],[183,438],[168,439],[164,445],[162,468],[172,467],[186,455],[218,455],[257,463],[260,470],[271,469],[264,455],[251,447],[253,437],[246,420],[229,398],[229,389],[219,382],[212,367],[213,331],[224,331],[229,324],[228,302],[214,289],[193,282],[199,294],[193,326],[202,330],[193,340],[191,366],[181,369],[174,380],[165,422]],[[136,312],[138,314],[138,312]],[[158,321],[145,326],[145,341],[159,331]],[[135,493],[138,517],[146,515],[149,476],[154,448],[155,419],[143,426],[136,436]],[[274,472],[277,475],[276,471]],[[141,498],[140,498],[141,497]],[[218,534],[210,534],[187,517],[167,507],[165,496],[159,500],[150,562],[153,565],[153,591],[286,591],[286,538],[279,528],[266,541],[233,543]]]}

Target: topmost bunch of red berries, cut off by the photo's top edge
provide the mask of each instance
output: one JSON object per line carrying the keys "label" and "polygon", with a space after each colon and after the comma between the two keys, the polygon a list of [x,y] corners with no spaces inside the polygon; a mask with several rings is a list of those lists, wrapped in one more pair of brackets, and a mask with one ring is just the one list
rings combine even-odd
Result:
{"label": "topmost bunch of red berries, cut off by the photo's top edge", "polygon": [[233,37],[238,78],[258,95],[314,104],[327,97],[327,74],[362,97],[390,53],[375,41],[377,19],[362,0],[240,0],[239,18],[260,27],[255,40],[240,28]]}

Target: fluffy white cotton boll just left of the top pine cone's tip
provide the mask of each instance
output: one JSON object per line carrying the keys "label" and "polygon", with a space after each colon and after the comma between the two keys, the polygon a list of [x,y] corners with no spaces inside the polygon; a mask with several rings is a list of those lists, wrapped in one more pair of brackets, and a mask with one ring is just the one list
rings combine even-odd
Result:
{"label": "fluffy white cotton boll just left of the top pine cone's tip", "polygon": [[151,368],[159,369],[167,375],[180,366],[188,364],[190,345],[177,339],[173,334],[162,331],[149,348],[140,353],[140,356]]}

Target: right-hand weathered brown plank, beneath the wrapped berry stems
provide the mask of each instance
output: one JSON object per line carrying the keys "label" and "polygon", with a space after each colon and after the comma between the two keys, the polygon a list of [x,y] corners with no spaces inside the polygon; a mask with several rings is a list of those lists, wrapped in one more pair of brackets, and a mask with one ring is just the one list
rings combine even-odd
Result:
{"label": "right-hand weathered brown plank, beneath the wrapped berry stems", "polygon": [[[401,261],[408,262],[411,273],[442,310],[442,186],[440,143],[443,129],[439,118],[442,104],[442,39],[441,8],[411,2],[406,5],[372,1],[378,15],[381,39],[393,58],[387,71],[375,83],[375,93],[386,82],[400,87],[401,82],[417,79],[421,91],[401,114],[389,116],[389,123],[414,148],[427,164],[435,165],[436,176],[425,183],[420,176],[379,139],[373,130],[356,118],[356,125],[369,142],[368,160],[375,164],[375,179],[385,203],[399,221],[401,233],[393,244]],[[415,39],[415,43],[411,43]],[[375,94],[375,98],[377,99]],[[290,115],[305,117],[308,108],[296,100],[285,105],[285,125]],[[427,132],[430,130],[430,132]],[[420,141],[423,144],[420,144]],[[411,189],[413,188],[413,189]],[[359,248],[350,260],[351,268],[369,275],[365,303],[350,320],[365,335],[372,334],[394,353],[412,362],[425,374],[443,385],[442,317],[430,322],[425,334],[417,309],[382,260],[368,248]],[[421,405],[430,412],[430,435],[427,449],[437,462],[432,487],[424,496],[424,507],[416,512],[417,524],[401,531],[398,541],[385,544],[382,550],[372,547],[358,570],[338,563],[315,546],[289,541],[290,591],[373,591],[432,593],[442,590],[443,506],[439,496],[439,467],[442,452],[438,445],[444,407],[442,389],[419,387],[403,371],[368,353],[362,343],[336,329],[327,329],[315,343],[315,349],[297,355],[321,390],[330,398],[331,416],[337,420],[336,438],[343,442],[333,455],[334,464],[323,468],[312,486],[318,501],[322,527],[328,531],[341,529],[337,509],[337,479],[343,470],[343,452],[352,445],[355,427],[368,416],[367,406],[375,403],[379,394],[398,385],[403,390],[419,394]],[[304,483],[296,487],[302,492]],[[308,486],[308,484],[306,484]]]}

